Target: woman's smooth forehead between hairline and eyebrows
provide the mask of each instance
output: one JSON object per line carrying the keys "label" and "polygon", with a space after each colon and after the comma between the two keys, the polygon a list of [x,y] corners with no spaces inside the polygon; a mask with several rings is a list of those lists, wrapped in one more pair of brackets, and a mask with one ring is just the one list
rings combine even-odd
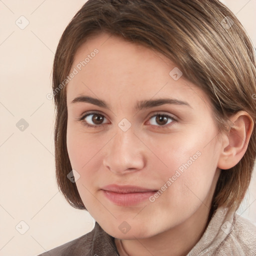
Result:
{"label": "woman's smooth forehead between hairline and eyebrows", "polygon": [[204,104],[208,101],[207,96],[184,77],[173,79],[170,72],[178,69],[166,56],[107,33],[90,37],[78,48],[71,71],[74,69],[77,73],[67,85],[67,102],[81,94],[107,96],[110,105],[119,98],[128,103],[130,98],[166,95]]}

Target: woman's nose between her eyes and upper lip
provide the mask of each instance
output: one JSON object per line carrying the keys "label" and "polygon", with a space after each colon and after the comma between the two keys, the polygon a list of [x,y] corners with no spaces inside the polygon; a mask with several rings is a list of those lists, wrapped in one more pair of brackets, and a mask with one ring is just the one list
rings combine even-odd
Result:
{"label": "woman's nose between her eyes and upper lip", "polygon": [[122,131],[117,127],[115,136],[105,147],[103,165],[116,174],[140,170],[145,165],[143,146],[131,128]]}

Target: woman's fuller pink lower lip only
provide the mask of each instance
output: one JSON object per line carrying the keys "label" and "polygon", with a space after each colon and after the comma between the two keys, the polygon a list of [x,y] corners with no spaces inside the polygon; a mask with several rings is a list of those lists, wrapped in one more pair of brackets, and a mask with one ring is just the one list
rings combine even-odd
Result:
{"label": "woman's fuller pink lower lip only", "polygon": [[120,194],[112,191],[102,190],[104,195],[114,204],[119,206],[131,206],[138,204],[151,195],[155,194],[156,191],[137,192],[137,193],[125,193]]}

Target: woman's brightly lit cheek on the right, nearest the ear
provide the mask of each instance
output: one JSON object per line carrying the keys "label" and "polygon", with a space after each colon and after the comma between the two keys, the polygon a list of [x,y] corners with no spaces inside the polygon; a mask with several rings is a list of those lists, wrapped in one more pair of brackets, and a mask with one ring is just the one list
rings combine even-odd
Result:
{"label": "woman's brightly lit cheek on the right, nearest the ear", "polygon": [[220,145],[215,138],[217,130],[209,124],[170,134],[169,139],[158,140],[157,146],[151,141],[153,151],[165,164],[157,161],[162,167],[153,178],[162,180],[170,202],[179,207],[200,202],[198,198],[203,200],[212,186]]}

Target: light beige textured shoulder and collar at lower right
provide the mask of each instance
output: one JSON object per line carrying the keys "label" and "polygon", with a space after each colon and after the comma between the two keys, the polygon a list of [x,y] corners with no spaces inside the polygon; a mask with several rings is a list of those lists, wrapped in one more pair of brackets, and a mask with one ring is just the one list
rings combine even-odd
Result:
{"label": "light beige textured shoulder and collar at lower right", "polygon": [[218,207],[200,240],[186,256],[255,256],[256,226],[226,207]]}

